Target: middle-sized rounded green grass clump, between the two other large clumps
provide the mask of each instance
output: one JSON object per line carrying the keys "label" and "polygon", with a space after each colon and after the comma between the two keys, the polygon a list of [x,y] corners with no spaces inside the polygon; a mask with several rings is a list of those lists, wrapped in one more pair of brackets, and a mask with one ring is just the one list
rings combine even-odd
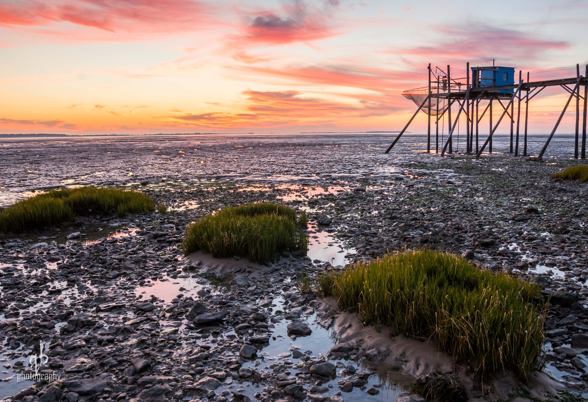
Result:
{"label": "middle-sized rounded green grass clump, between the two other large clumps", "polygon": [[270,202],[222,209],[192,222],[182,243],[185,254],[202,250],[213,257],[249,256],[268,262],[276,253],[306,255],[308,236],[296,233],[296,211]]}

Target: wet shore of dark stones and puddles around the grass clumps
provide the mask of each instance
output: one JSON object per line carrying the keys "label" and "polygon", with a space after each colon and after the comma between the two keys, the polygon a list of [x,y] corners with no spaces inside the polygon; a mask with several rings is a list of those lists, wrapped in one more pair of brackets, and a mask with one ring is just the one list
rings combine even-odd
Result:
{"label": "wet shore of dark stones and puddles around the grass clumps", "polygon": [[[251,158],[261,159],[260,150]],[[239,173],[245,162],[221,172],[226,160],[209,162],[208,173],[193,178],[135,172],[131,185],[169,213],[84,217],[46,228],[43,236],[0,237],[1,396],[41,402],[422,400],[403,387],[428,373],[407,359],[385,363],[381,351],[361,342],[344,342],[348,313],[325,310],[316,294],[300,294],[297,284],[307,274],[312,280],[325,269],[415,247],[457,253],[480,269],[542,286],[551,297],[545,350],[546,372],[559,384],[553,391],[584,392],[588,192],[586,184],[550,179],[574,162],[374,153],[362,159],[338,150],[329,163],[317,158],[302,167],[298,162],[310,152],[279,166],[266,160],[255,172]],[[309,256],[286,254],[260,266],[182,255],[183,228],[193,219],[258,200],[308,212]],[[98,229],[119,231],[99,237],[108,230]],[[29,358],[40,353],[39,343],[49,358],[39,373],[57,373],[59,380],[17,383],[18,373],[35,372]],[[390,379],[390,373],[399,375]],[[519,392],[500,384],[465,386],[473,401],[510,400]]]}

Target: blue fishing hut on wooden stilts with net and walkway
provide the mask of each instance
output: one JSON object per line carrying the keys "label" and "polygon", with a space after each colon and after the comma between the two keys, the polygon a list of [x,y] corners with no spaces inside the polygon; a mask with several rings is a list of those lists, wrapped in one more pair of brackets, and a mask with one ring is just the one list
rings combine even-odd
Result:
{"label": "blue fishing hut on wooden stilts with net and walkway", "polygon": [[[575,71],[573,71],[575,70]],[[519,133],[523,131],[523,149],[522,156],[527,155],[527,127],[529,122],[529,102],[537,96],[543,89],[548,86],[560,86],[564,91],[569,93],[566,105],[563,107],[553,130],[539,152],[537,159],[543,157],[547,146],[551,142],[553,135],[557,130],[560,122],[572,99],[576,99],[576,141],[574,148],[574,158],[586,159],[586,110],[588,98],[588,65],[586,65],[584,75],[580,75],[580,65],[567,68],[548,69],[534,71],[533,79],[531,73],[527,72],[526,77],[522,71],[519,71],[518,77],[515,76],[515,68],[503,66],[476,66],[470,68],[470,63],[466,65],[466,76],[462,78],[453,78],[451,68],[447,65],[446,70],[435,68],[431,69],[429,63],[429,85],[423,88],[410,89],[402,93],[408,99],[413,100],[419,108],[410,118],[406,126],[396,136],[394,142],[386,149],[390,150],[396,145],[398,140],[409,128],[410,123],[415,119],[419,110],[427,113],[427,152],[431,152],[431,118],[435,120],[435,153],[457,152],[453,146],[454,133],[458,128],[459,140],[459,122],[462,113],[466,118],[466,155],[476,155],[480,158],[482,152],[488,149],[492,153],[492,136],[500,123],[505,120],[510,122],[510,151],[519,156]],[[471,73],[471,75],[470,75]],[[564,77],[557,78],[554,77]],[[471,79],[470,79],[471,78]],[[543,79],[551,78],[551,79]],[[582,141],[580,143],[580,99],[583,100],[582,111]],[[517,105],[515,115],[515,103]],[[521,128],[521,106],[524,105],[524,123]],[[502,109],[500,118],[493,122],[493,107]],[[452,109],[457,109],[455,118],[452,119]],[[489,116],[489,132],[486,140],[480,146],[480,122],[485,115]],[[445,118],[447,119],[447,136],[445,137],[444,128]],[[440,124],[443,126],[440,128]],[[516,126],[516,129],[515,129]],[[439,130],[441,129],[442,138],[439,142]],[[459,146],[459,143],[457,143]],[[441,146],[441,149],[439,147]]]}

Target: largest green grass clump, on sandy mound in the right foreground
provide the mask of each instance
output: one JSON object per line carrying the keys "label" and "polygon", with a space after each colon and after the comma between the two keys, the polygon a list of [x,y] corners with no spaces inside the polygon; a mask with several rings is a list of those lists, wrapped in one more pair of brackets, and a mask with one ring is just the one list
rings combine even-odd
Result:
{"label": "largest green grass clump, on sandy mound in the right foreground", "polygon": [[542,367],[544,305],[539,287],[492,274],[439,251],[389,254],[320,275],[320,293],[367,324],[432,339],[483,376],[510,368],[521,378]]}

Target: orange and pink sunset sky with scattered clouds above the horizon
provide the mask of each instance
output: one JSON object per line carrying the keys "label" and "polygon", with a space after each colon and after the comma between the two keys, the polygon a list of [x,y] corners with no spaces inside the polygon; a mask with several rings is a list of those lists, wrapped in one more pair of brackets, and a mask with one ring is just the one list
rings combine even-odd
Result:
{"label": "orange and pink sunset sky with scattered clouds above the horizon", "polygon": [[[585,65],[587,19],[585,0],[0,0],[0,133],[399,130],[427,63]],[[534,98],[530,130],[566,100]]]}

